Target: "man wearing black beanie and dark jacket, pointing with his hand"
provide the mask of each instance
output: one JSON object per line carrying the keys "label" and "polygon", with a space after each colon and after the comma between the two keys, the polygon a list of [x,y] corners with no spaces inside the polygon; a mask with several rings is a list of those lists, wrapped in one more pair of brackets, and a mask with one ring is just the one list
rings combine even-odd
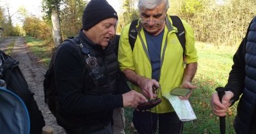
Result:
{"label": "man wearing black beanie and dark jacket, pointing with his hand", "polygon": [[83,29],[64,41],[54,62],[56,119],[67,134],[113,134],[113,110],[147,101],[130,91],[118,68],[111,39],[117,13],[106,0],[91,0]]}

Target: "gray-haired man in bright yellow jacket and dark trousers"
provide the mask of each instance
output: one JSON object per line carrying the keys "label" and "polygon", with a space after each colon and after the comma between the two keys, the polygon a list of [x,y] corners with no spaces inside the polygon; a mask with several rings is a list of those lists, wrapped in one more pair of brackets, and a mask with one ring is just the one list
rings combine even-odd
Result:
{"label": "gray-haired man in bright yellow jacket and dark trousers", "polygon": [[[168,0],[139,0],[138,8],[140,19],[136,22],[136,41],[132,47],[129,41],[131,24],[128,24],[120,36],[118,62],[132,83],[132,89],[143,93],[148,100],[161,98],[162,102],[149,110],[134,110],[132,122],[141,134],[156,133],[157,130],[161,134],[182,133],[183,123],[162,93],[170,93],[174,87],[196,88],[191,84],[198,61],[193,29],[182,20],[182,34],[186,38],[186,50],[183,50],[176,34],[179,29],[166,15]],[[191,93],[180,96],[180,99],[186,100],[189,96]]]}

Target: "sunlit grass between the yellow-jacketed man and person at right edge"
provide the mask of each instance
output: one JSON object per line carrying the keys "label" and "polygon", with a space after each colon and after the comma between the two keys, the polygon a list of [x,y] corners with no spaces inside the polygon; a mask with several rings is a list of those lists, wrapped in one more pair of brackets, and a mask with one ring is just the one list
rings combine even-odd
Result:
{"label": "sunlit grass between the yellow-jacketed man and person at right edge", "polygon": [[[185,123],[184,133],[220,133],[219,119],[212,114],[211,94],[218,86],[225,86],[233,64],[232,57],[237,47],[196,43],[198,50],[198,71],[193,83],[198,87],[189,99],[197,119]],[[226,133],[235,133],[233,128],[236,107],[230,108],[226,117]]]}

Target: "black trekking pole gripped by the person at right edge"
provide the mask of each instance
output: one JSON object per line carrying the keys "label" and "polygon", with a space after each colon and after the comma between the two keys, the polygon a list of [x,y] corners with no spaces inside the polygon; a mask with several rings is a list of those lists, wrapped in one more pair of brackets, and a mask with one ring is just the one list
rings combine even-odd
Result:
{"label": "black trekking pole gripped by the person at right edge", "polygon": [[[219,96],[220,101],[221,101],[222,97],[225,94],[225,88],[224,87],[217,87],[215,90],[218,92],[218,96]],[[226,116],[220,117],[220,133],[221,134],[225,134],[225,130],[226,130],[225,117]]]}

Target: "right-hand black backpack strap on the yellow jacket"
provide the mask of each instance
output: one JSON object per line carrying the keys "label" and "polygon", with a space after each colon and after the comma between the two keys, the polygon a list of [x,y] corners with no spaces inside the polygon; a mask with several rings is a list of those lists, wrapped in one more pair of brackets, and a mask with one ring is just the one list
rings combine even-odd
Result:
{"label": "right-hand black backpack strap on the yellow jacket", "polygon": [[180,44],[181,44],[181,47],[183,48],[183,56],[185,56],[185,52],[186,52],[186,37],[185,37],[185,29],[184,29],[184,26],[180,20],[179,17],[177,16],[174,16],[174,15],[170,15],[171,19],[172,19],[172,23],[173,23],[173,26],[177,27],[178,29],[178,33],[176,33],[179,41],[180,41]]}

